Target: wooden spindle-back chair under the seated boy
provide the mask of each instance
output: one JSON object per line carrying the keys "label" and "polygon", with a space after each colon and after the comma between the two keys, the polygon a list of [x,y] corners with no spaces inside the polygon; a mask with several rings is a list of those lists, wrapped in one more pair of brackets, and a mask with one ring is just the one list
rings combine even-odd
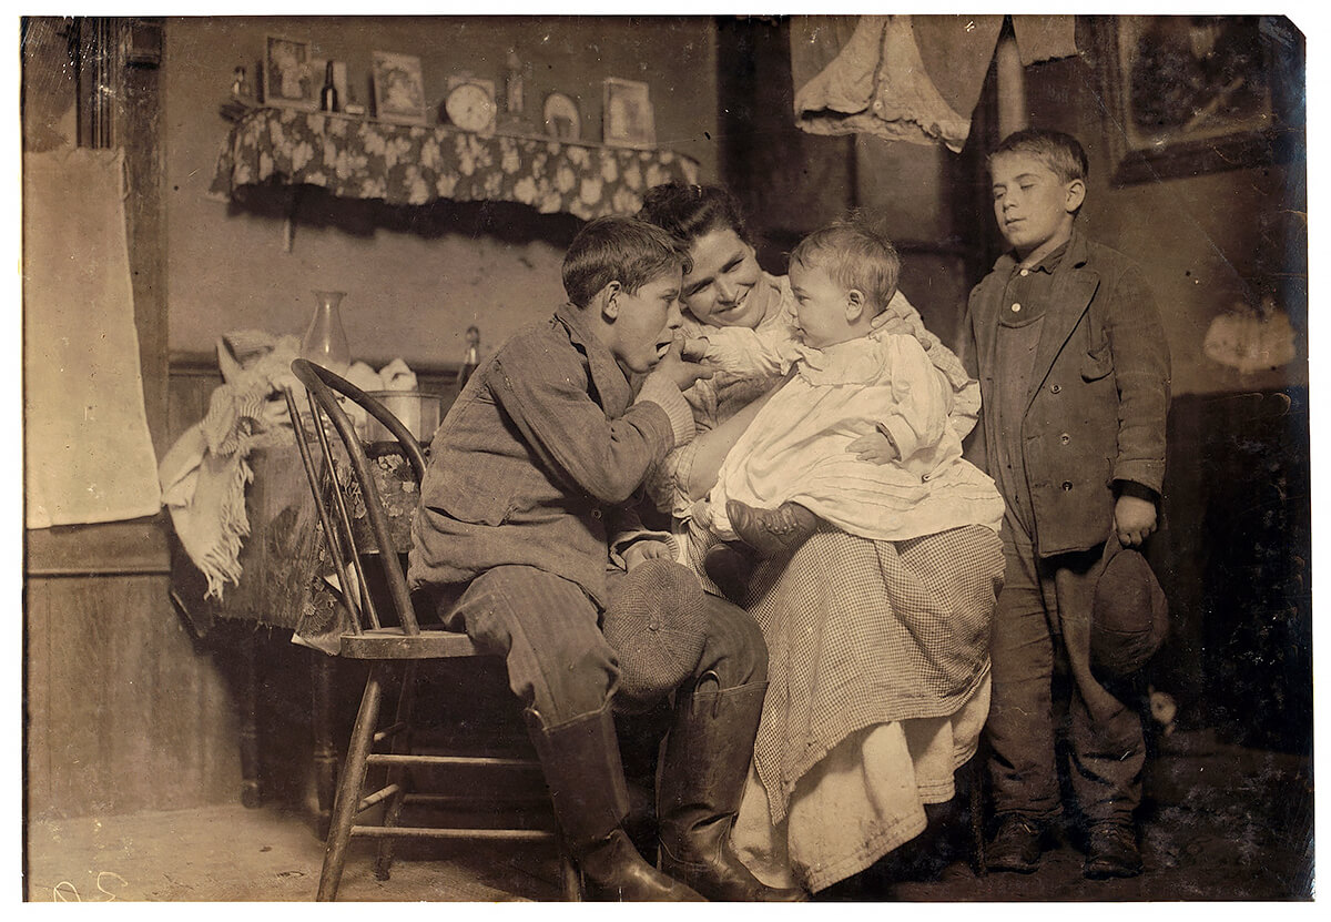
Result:
{"label": "wooden spindle-back chair under the seated boy", "polygon": [[[499,803],[512,803],[514,798],[478,798],[466,791],[451,794],[419,794],[411,787],[409,769],[413,766],[443,771],[449,769],[494,769],[498,771],[540,771],[535,754],[511,758],[495,755],[492,751],[458,751],[453,747],[445,754],[419,754],[413,747],[413,705],[415,698],[417,669],[422,661],[443,661],[483,657],[462,633],[449,630],[422,630],[417,606],[407,589],[402,566],[401,549],[395,548],[389,532],[387,514],[370,470],[365,448],[355,434],[353,424],[339,405],[337,394],[351,400],[370,416],[382,422],[398,442],[415,474],[417,482],[425,476],[425,453],[411,433],[389,413],[378,401],[363,393],[355,385],[338,374],[305,360],[291,362],[291,372],[305,385],[309,401],[309,420],[314,440],[322,456],[322,470],[315,465],[309,436],[295,400],[286,393],[287,409],[297,430],[295,442],[299,446],[301,461],[314,494],[314,505],[319,514],[325,542],[333,566],[338,574],[342,598],[345,601],[349,626],[339,638],[341,657],[369,664],[369,678],[361,698],[361,707],[351,731],[342,774],[338,781],[337,799],[333,807],[333,822],[329,829],[323,854],[323,870],[319,874],[318,899],[337,898],[342,869],[346,863],[347,846],[354,837],[377,837],[379,839],[375,877],[389,878],[393,863],[394,839],[445,838],[445,839],[511,839],[511,841],[551,841],[559,845],[560,877],[563,894],[568,899],[579,898],[578,877],[559,843],[558,829],[552,822],[550,829],[490,829],[478,826],[403,826],[399,825],[403,809],[413,802],[431,802],[435,806],[454,806],[483,811]],[[369,521],[369,540],[365,529],[357,533],[343,496],[346,485],[337,482],[331,437],[323,420],[331,422],[346,460],[350,462],[350,476],[361,492],[365,516]],[[382,569],[381,592],[371,592],[367,570],[377,565]],[[378,596],[378,598],[377,598]],[[386,598],[383,598],[386,596]],[[434,613],[422,612],[434,621]],[[390,616],[390,617],[385,617]],[[502,661],[494,658],[498,669]],[[397,701],[394,719],[379,727],[386,689],[391,688],[391,674],[401,673],[401,693]],[[387,745],[387,751],[377,751]],[[530,750],[528,750],[530,751]],[[386,769],[386,782],[375,790],[366,789],[371,767]],[[539,777],[539,774],[538,774]],[[373,785],[371,785],[373,786]],[[543,790],[543,782],[538,782]],[[512,786],[506,786],[512,790]],[[503,787],[500,789],[503,790]],[[522,799],[520,797],[518,799]],[[530,799],[530,798],[527,798]],[[548,803],[548,799],[542,795]],[[382,821],[377,825],[358,825],[357,818],[371,809],[382,809]]]}

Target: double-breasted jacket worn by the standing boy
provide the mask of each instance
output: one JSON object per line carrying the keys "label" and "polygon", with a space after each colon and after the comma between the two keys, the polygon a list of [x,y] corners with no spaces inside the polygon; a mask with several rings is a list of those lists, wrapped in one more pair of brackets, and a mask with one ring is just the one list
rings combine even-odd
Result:
{"label": "double-breasted jacket worn by the standing boy", "polygon": [[[994,376],[1002,373],[993,356],[1014,262],[1000,257],[968,308],[965,364],[980,380],[981,417],[966,457],[982,470],[998,457],[986,408],[996,405]],[[1089,550],[1113,529],[1114,481],[1155,493],[1163,486],[1170,357],[1141,270],[1075,229],[1054,269],[1030,381],[1021,444],[1037,552]]]}

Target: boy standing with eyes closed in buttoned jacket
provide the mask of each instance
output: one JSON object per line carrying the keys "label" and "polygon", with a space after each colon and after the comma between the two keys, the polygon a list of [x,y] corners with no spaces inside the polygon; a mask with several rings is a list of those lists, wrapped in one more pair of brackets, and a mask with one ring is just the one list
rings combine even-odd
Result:
{"label": "boy standing with eyes closed in buttoned jacket", "polygon": [[1142,869],[1142,723],[1131,681],[1091,674],[1090,614],[1105,542],[1135,548],[1155,530],[1169,349],[1141,270],[1077,227],[1081,144],[1021,131],[989,169],[1012,252],[968,309],[966,364],[982,401],[968,456],[1006,500],[986,725],[998,829],[986,862],[1033,871],[1061,813],[1057,688],[1066,689],[1071,791],[1089,825],[1083,873],[1130,877]]}

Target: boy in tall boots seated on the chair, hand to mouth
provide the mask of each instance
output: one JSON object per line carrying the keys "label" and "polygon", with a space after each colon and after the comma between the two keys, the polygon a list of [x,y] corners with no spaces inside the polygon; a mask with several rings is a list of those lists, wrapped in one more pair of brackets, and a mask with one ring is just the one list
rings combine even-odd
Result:
{"label": "boy in tall boots seated on the chair, hand to mouth", "polygon": [[[672,345],[687,258],[635,219],[579,232],[563,261],[568,302],[488,358],[435,433],[409,577],[447,628],[504,657],[588,897],[796,899],[729,845],[767,689],[761,632],[700,593],[667,536],[632,528],[647,472],[693,436],[680,388],[708,374]],[[620,564],[610,577],[607,558]],[[630,609],[699,626],[696,644],[669,652],[676,673],[655,702],[603,633]],[[623,829],[614,715],[669,694],[658,870]]]}

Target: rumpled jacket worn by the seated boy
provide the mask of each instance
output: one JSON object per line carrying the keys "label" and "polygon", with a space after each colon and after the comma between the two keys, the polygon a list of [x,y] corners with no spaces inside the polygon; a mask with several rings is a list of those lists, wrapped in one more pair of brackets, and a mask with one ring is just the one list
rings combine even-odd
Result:
{"label": "rumpled jacket worn by the seated boy", "polygon": [[676,433],[692,432],[673,385],[638,396],[571,305],[508,340],[434,437],[411,526],[411,586],[526,565],[578,584],[604,608],[620,506]]}

